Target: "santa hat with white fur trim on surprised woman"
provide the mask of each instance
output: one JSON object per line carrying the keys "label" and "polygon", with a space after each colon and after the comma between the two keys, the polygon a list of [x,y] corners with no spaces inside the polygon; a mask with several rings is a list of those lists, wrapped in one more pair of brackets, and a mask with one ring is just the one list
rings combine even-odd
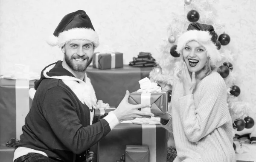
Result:
{"label": "santa hat with white fur trim on surprised woman", "polygon": [[177,53],[182,53],[186,43],[196,41],[206,49],[210,63],[216,65],[218,61],[221,61],[221,54],[216,46],[217,37],[212,25],[193,22],[189,24],[187,31],[178,38]]}

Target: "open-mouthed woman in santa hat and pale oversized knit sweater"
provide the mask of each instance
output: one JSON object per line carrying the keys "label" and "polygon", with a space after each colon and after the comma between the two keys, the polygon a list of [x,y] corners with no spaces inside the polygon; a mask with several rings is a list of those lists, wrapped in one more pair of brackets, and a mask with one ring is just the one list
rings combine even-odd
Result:
{"label": "open-mouthed woman in santa hat and pale oversized knit sweater", "polygon": [[236,162],[227,89],[215,71],[221,61],[216,38],[212,25],[196,22],[178,39],[183,61],[174,77],[171,109],[161,117],[174,135],[174,162]]}

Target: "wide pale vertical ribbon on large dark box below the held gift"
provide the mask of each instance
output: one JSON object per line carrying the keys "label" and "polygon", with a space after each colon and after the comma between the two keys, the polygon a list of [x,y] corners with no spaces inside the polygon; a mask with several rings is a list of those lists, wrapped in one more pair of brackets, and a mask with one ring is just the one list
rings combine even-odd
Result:
{"label": "wide pale vertical ribbon on large dark box below the held gift", "polygon": [[157,162],[157,127],[142,125],[142,144],[149,147],[149,162]]}

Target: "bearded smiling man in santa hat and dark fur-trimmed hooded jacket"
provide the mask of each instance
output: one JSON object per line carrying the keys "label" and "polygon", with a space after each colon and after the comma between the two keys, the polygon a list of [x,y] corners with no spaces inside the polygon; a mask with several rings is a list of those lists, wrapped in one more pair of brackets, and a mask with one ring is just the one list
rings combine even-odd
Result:
{"label": "bearded smiling man in santa hat and dark fur-trimmed hooded jacket", "polygon": [[50,64],[35,81],[35,94],[26,116],[23,134],[14,153],[15,162],[82,162],[88,149],[121,120],[154,116],[131,105],[129,92],[116,110],[94,116],[96,96],[85,70],[91,63],[99,38],[84,11],[67,14],[48,42],[58,45],[63,61]]}

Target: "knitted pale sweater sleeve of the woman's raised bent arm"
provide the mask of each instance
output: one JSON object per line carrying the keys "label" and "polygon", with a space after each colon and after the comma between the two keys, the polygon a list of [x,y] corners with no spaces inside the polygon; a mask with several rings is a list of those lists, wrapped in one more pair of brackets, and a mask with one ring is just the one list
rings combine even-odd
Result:
{"label": "knitted pale sweater sleeve of the woman's raised bent arm", "polygon": [[[215,75],[216,76],[216,75]],[[210,77],[200,85],[201,101],[195,107],[193,95],[179,98],[180,117],[186,137],[197,142],[227,123],[227,90],[224,80]]]}

